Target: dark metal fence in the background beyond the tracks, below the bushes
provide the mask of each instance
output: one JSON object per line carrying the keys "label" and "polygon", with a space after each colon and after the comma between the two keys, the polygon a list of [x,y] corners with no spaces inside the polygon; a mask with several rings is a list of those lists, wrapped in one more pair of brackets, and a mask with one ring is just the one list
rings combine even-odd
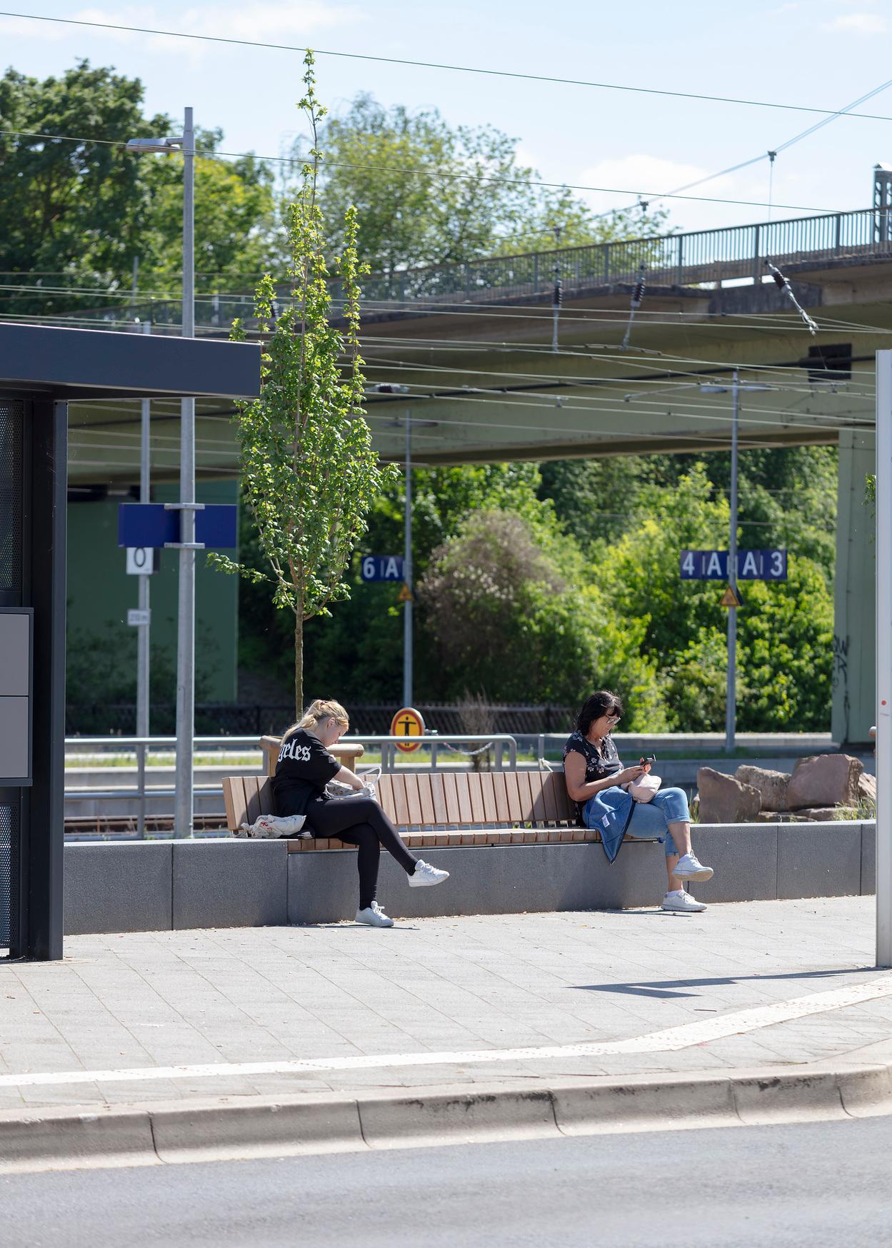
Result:
{"label": "dark metal fence in the background beyond the tracks, below the bushes", "polygon": [[[397,703],[349,704],[351,734],[362,736],[388,733]],[[445,735],[458,733],[508,733],[516,736],[563,733],[573,729],[578,708],[543,704],[540,706],[474,706],[473,720],[464,706],[447,703],[418,703],[428,729]],[[294,719],[292,705],[206,703],[195,709],[196,735],[262,736],[279,734]],[[172,703],[153,704],[152,731],[163,736],[176,726]],[[135,703],[71,704],[65,714],[66,736],[132,736],[136,733]]]}

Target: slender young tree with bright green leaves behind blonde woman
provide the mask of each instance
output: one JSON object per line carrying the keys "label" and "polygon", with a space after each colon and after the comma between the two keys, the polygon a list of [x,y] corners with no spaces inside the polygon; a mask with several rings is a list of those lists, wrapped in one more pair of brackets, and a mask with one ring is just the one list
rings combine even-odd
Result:
{"label": "slender young tree with bright green leaves behind blonde woman", "polygon": [[[318,203],[322,152],[318,126],[326,110],[316,96],[313,55],[304,57],[301,100],[313,132],[309,160],[288,208],[292,298],[277,311],[271,276],[262,280],[255,314],[264,334],[261,397],[238,407],[242,495],[257,527],[266,570],[210,555],[223,572],[274,585],[273,603],[294,615],[294,709],[303,706],[303,624],[329,614],[349,597],[344,579],[367,515],[394,468],[383,468],[372,447],[362,401],[357,213],[344,213],[343,248],[333,268],[343,285],[344,332],[328,313],[329,270]],[[235,339],[245,338],[236,322]],[[342,358],[347,366],[342,371]]]}

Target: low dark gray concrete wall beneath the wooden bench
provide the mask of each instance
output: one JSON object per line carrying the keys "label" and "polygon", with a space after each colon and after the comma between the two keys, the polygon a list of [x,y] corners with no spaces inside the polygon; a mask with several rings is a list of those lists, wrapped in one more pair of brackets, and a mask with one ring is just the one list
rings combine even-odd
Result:
{"label": "low dark gray concrete wall beneath the wooden bench", "polygon": [[[691,885],[706,902],[842,897],[875,890],[872,822],[741,824],[695,829],[715,869]],[[425,849],[450,872],[410,889],[382,855],[378,896],[393,917],[619,910],[656,905],[662,846],[628,842],[610,866],[595,844]],[[356,855],[288,854],[284,841],[130,841],[65,847],[69,935],[337,922],[357,906]]]}

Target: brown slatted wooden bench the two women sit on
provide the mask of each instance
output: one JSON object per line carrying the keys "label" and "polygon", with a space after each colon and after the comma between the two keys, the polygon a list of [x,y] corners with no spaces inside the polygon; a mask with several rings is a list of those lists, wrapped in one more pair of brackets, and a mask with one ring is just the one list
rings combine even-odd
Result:
{"label": "brown slatted wooden bench the two women sit on", "polygon": [[[272,784],[263,776],[225,779],[223,797],[231,832],[276,814]],[[388,774],[381,778],[378,797],[413,849],[600,841],[594,829],[576,826],[561,771]],[[339,849],[356,846],[337,837],[288,841],[294,854]]]}

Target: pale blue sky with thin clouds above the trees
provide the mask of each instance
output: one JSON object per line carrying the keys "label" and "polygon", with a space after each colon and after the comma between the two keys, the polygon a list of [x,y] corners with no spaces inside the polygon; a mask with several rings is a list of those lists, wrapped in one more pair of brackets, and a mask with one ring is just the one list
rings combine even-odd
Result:
{"label": "pale blue sky with thin clouds above the trees", "polygon": [[[322,51],[509,70],[586,81],[842,109],[892,77],[892,0],[213,0],[79,6],[6,0],[29,15],[80,17]],[[146,86],[146,111],[225,131],[225,150],[279,156],[303,132],[302,54],[0,17],[0,71],[46,77],[76,60],[114,65]],[[333,112],[359,91],[382,104],[439,109],[453,125],[488,122],[518,140],[523,163],[580,191],[598,211],[654,197],[761,156],[820,121],[752,107],[593,86],[523,81],[319,55],[318,92]],[[772,220],[871,205],[872,167],[892,165],[892,84],[861,111],[780,152]],[[665,201],[670,226],[715,228],[768,217],[768,162]]]}

